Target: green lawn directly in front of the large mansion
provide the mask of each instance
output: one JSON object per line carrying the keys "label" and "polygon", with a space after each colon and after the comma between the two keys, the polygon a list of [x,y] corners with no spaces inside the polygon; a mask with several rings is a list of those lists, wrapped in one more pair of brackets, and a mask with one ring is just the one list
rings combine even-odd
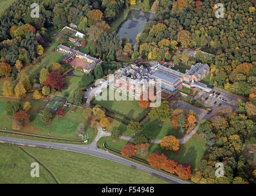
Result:
{"label": "green lawn directly in front of the large mansion", "polygon": [[148,114],[148,108],[141,108],[137,100],[92,100],[92,104],[101,105],[106,110],[114,113],[114,117],[129,119],[130,121],[141,121]]}

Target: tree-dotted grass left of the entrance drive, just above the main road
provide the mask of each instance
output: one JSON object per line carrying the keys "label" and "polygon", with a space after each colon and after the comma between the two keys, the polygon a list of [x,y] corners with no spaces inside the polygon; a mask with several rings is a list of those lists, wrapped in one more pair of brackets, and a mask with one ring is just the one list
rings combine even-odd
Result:
{"label": "tree-dotted grass left of the entrance drive, just above the main road", "polygon": [[[9,99],[0,98],[0,128],[7,128],[7,130],[12,130],[13,118],[6,115],[5,111],[5,104],[8,100]],[[25,102],[25,100],[21,102],[23,103]],[[89,124],[87,124],[86,120],[82,117],[81,108],[76,108],[76,113],[71,113],[71,111],[68,111],[63,118],[55,116],[52,122],[46,124],[41,121],[41,116],[34,113],[35,111],[38,111],[39,108],[41,108],[41,106],[45,104],[45,102],[43,100],[33,99],[29,100],[29,102],[32,105],[31,110],[29,111],[31,116],[31,123],[18,130],[18,132],[43,136],[48,136],[48,134],[50,133],[50,137],[79,140],[81,138],[79,138],[75,132],[79,124],[84,123],[86,125],[86,132],[89,133],[89,136],[94,135],[94,130],[89,126]]]}

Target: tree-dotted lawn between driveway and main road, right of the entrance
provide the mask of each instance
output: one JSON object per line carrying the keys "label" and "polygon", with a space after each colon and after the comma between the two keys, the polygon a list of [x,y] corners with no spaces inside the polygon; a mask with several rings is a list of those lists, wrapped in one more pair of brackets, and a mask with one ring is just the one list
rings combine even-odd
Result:
{"label": "tree-dotted lawn between driveway and main road, right of the entrance", "polygon": [[[98,146],[102,147],[102,144],[106,141],[108,148],[115,149],[116,151],[121,151],[122,146],[127,145],[129,141],[121,140],[113,141],[111,138],[101,138],[98,141]],[[204,156],[206,143],[202,140],[200,135],[194,135],[190,141],[180,146],[177,152],[166,152],[163,151],[159,144],[151,144],[148,150],[148,154],[141,156],[136,154],[135,156],[146,160],[148,156],[153,153],[164,154],[169,159],[176,160],[178,164],[188,164],[191,165],[191,170],[193,171],[197,163]]]}

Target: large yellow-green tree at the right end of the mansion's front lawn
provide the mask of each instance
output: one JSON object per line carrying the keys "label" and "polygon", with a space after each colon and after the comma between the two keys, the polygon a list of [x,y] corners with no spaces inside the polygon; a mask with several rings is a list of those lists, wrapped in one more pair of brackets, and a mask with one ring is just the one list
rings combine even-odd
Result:
{"label": "large yellow-green tree at the right end of the mansion's front lawn", "polygon": [[156,119],[162,122],[170,118],[170,115],[172,115],[172,111],[170,110],[169,102],[166,100],[161,103],[160,107],[152,108],[150,113],[148,113],[148,116],[150,116],[151,119]]}

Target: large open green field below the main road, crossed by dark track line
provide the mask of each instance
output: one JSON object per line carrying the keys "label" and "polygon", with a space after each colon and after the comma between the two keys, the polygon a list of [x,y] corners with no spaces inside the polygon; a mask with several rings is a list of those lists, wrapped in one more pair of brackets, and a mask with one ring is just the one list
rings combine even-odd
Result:
{"label": "large open green field below the main road, crossed by dark track line", "polygon": [[[108,160],[52,149],[23,148],[39,160],[39,178],[31,178],[37,162],[18,146],[0,145],[0,183],[166,183],[161,179]],[[4,168],[4,170],[2,170]],[[54,177],[53,177],[54,176]]]}

